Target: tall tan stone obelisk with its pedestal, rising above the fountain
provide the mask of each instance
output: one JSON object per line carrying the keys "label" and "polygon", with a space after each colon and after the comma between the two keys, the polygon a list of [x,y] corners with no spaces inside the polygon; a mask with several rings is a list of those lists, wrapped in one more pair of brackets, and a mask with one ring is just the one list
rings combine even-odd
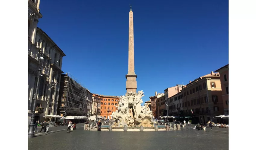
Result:
{"label": "tall tan stone obelisk with its pedestal, rising above the fountain", "polygon": [[136,92],[137,89],[137,75],[134,71],[134,37],[133,37],[133,11],[130,6],[129,12],[129,48],[128,48],[128,73],[126,77],[126,93]]}

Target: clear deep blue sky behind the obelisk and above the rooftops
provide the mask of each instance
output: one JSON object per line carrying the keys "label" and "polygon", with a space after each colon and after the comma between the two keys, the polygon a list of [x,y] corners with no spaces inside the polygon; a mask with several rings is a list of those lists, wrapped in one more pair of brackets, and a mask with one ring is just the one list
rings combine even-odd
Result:
{"label": "clear deep blue sky behind the obelisk and above the rooftops", "polygon": [[124,95],[132,4],[137,91],[187,84],[228,64],[228,1],[41,1],[38,27],[92,93]]}

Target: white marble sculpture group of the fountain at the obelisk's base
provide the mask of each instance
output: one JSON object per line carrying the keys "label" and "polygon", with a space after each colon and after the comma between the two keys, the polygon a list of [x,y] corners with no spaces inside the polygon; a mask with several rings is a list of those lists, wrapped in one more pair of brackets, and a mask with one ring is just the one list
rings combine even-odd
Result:
{"label": "white marble sculpture group of the fountain at the obelisk's base", "polygon": [[[123,127],[127,125],[129,127],[143,126],[143,127],[153,127],[152,122],[152,111],[147,109],[147,104],[141,106],[143,103],[143,91],[128,92],[126,96],[120,96],[119,106],[115,112],[111,114],[112,116],[112,127]],[[133,109],[134,117],[130,116],[129,108]]]}

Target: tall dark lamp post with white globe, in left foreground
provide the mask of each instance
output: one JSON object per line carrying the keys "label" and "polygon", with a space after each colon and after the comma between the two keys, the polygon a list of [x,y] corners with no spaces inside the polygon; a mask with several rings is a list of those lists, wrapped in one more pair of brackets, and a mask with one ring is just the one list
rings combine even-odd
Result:
{"label": "tall dark lamp post with white globe, in left foreground", "polygon": [[36,83],[36,93],[34,95],[34,103],[33,103],[33,110],[32,110],[32,115],[31,115],[31,119],[30,119],[30,124],[29,124],[29,129],[28,129],[28,138],[33,138],[35,137],[35,134],[34,134],[34,126],[35,126],[35,111],[36,111],[36,98],[37,98],[37,93],[38,93],[38,86],[39,86],[39,78],[41,76],[41,67],[40,67],[40,60],[44,60],[44,58],[42,57],[42,54],[41,54],[41,57],[39,58],[39,69],[38,69],[38,76],[37,76],[37,83]]}

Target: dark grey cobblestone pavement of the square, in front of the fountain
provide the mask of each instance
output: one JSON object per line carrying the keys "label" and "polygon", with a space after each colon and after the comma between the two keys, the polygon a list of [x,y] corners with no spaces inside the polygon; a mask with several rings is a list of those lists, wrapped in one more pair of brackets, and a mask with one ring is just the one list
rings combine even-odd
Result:
{"label": "dark grey cobblestone pavement of the square, in front of the fountain", "polygon": [[[28,150],[37,149],[92,149],[92,150],[198,150],[229,148],[228,132],[198,131],[192,128],[181,128],[179,131],[158,132],[110,132],[86,131],[78,128],[71,133],[55,132],[28,139]],[[45,143],[45,144],[43,144]],[[50,147],[49,147],[50,146]]]}

